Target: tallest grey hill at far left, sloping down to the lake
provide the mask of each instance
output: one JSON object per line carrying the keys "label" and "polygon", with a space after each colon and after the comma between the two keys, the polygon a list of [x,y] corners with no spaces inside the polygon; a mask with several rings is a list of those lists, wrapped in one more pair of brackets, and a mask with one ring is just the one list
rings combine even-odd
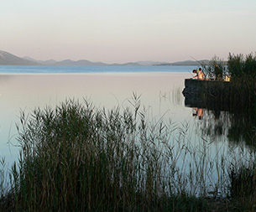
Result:
{"label": "tallest grey hill at far left, sloping down to the lake", "polygon": [[39,65],[38,63],[19,58],[13,54],[0,50],[0,65]]}

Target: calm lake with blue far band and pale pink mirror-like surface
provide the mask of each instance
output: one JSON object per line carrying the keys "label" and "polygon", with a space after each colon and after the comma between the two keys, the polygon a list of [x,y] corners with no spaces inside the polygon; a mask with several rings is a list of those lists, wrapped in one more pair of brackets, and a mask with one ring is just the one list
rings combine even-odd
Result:
{"label": "calm lake with blue far band and pale pink mirror-like surface", "polygon": [[[137,95],[149,122],[172,122],[185,132],[183,144],[188,150],[206,154],[204,168],[210,168],[212,161],[221,163],[222,158],[227,159],[227,166],[237,162],[238,156],[252,160],[253,144],[246,135],[255,131],[255,126],[253,121],[244,125],[246,115],[185,106],[181,92],[193,69],[196,66],[0,66],[0,156],[6,158],[8,167],[18,160],[20,111],[29,114],[37,107],[55,108],[69,98],[91,101],[95,110],[133,110],[131,102]],[[182,167],[192,160],[197,163],[201,156],[182,155],[177,164]],[[216,184],[217,166],[206,178],[208,184]]]}

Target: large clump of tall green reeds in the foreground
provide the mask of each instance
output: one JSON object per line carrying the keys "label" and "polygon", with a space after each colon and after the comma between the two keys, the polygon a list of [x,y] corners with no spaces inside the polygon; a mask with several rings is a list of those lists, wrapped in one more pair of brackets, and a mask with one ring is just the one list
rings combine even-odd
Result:
{"label": "large clump of tall green reeds in the foreground", "polygon": [[0,200],[3,211],[238,209],[227,198],[217,199],[228,182],[223,160],[212,162],[206,143],[193,149],[185,126],[149,124],[133,97],[133,112],[97,111],[86,101],[66,101],[29,117],[22,113],[22,150]]}

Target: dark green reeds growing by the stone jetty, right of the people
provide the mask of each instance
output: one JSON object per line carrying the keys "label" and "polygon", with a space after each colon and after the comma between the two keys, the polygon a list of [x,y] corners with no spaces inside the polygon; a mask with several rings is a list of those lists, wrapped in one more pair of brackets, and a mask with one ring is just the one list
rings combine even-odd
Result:
{"label": "dark green reeds growing by the stone jetty, right of the people", "polygon": [[215,82],[201,87],[200,98],[217,107],[225,105],[230,111],[253,108],[255,112],[256,54],[229,54],[227,62],[214,57],[202,68],[206,79]]}

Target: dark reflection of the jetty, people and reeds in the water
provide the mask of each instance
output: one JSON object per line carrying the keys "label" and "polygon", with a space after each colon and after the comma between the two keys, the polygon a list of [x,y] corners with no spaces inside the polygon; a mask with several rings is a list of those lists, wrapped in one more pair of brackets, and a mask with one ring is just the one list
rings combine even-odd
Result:
{"label": "dark reflection of the jetty, people and reeds in the water", "polygon": [[[217,139],[227,137],[228,142],[244,142],[248,147],[256,147],[256,112],[253,108],[247,111],[238,108],[227,108],[203,100],[185,98],[185,106],[191,107],[192,116],[201,122],[197,127],[201,135]],[[202,118],[203,117],[203,118]]]}

